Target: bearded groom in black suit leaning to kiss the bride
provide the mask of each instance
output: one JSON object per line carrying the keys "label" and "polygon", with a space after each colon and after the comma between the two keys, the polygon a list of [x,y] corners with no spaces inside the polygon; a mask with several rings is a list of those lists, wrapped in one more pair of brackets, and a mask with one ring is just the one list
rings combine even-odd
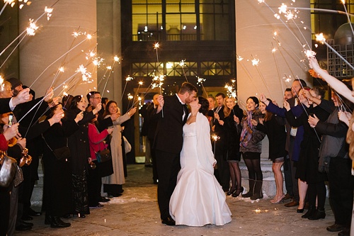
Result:
{"label": "bearded groom in black suit leaning to kiss the bride", "polygon": [[179,158],[183,143],[183,125],[188,118],[188,108],[185,104],[195,99],[197,91],[193,84],[185,82],[178,94],[166,98],[159,95],[159,106],[155,108],[155,118],[159,119],[154,138],[159,176],[157,198],[161,223],[166,225],[176,225],[169,213],[169,202],[181,169]]}

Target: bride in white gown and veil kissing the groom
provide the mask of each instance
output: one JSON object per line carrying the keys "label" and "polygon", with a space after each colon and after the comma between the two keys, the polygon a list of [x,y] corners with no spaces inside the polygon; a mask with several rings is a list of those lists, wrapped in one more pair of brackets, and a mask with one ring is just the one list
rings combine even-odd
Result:
{"label": "bride in white gown and veil kissing the groom", "polygon": [[207,99],[199,96],[189,103],[191,113],[183,126],[181,171],[170,200],[170,215],[176,225],[224,225],[231,211],[222,187],[214,176],[216,160],[212,154],[210,125],[204,116]]}

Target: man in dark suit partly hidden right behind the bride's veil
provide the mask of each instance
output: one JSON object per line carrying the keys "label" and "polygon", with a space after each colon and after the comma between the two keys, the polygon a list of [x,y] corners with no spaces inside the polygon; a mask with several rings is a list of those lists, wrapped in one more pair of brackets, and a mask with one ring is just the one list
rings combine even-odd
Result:
{"label": "man in dark suit partly hidden right behind the bride's veil", "polygon": [[[224,120],[224,100],[225,94],[219,93],[215,96],[217,101],[217,107],[214,109],[214,126],[212,130],[215,131],[215,135],[219,137],[219,140],[215,143],[215,159],[217,160],[217,169],[215,169],[215,177],[224,191],[229,191],[230,171],[229,164],[226,161],[226,133],[222,125],[219,124],[219,120]],[[213,145],[214,146],[214,145]]]}

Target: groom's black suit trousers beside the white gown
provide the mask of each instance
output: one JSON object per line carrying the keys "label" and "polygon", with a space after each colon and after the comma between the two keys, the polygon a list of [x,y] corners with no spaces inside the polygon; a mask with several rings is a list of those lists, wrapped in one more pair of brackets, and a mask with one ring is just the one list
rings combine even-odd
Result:
{"label": "groom's black suit trousers beside the white gown", "polygon": [[159,203],[161,219],[164,219],[170,215],[170,198],[176,187],[177,174],[181,169],[180,154],[156,150],[156,165],[159,175],[157,202]]}

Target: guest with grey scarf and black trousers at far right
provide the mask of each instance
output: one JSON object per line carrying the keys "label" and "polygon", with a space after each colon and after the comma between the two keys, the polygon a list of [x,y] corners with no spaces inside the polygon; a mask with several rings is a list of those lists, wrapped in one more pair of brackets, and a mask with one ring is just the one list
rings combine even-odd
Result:
{"label": "guest with grey scarf and black trousers at far right", "polygon": [[348,126],[338,118],[342,102],[336,91],[331,91],[331,97],[335,107],[326,122],[309,116],[309,124],[315,127],[318,133],[323,134],[319,148],[319,170],[326,172],[329,178],[329,201],[335,220],[327,230],[341,231],[343,236],[350,235],[354,178],[351,175],[352,163],[346,144]]}

